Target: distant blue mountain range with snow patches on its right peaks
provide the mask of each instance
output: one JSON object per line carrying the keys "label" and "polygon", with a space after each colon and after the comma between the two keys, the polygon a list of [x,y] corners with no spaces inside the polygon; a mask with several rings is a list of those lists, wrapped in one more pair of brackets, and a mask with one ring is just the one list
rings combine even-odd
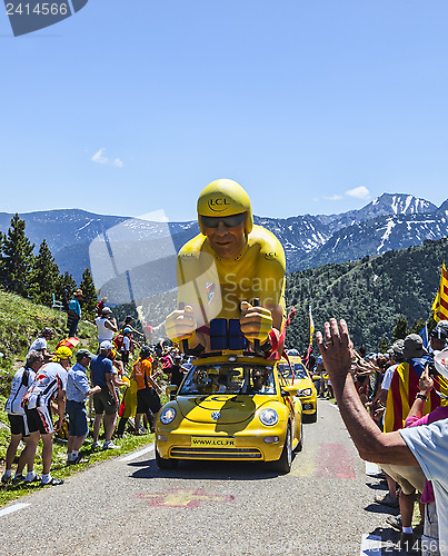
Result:
{"label": "distant blue mountain range with snow patches on its right peaks", "polygon": [[[8,230],[12,216],[0,212],[1,231]],[[175,258],[185,241],[199,232],[196,221],[153,222],[79,209],[19,216],[36,249],[46,238],[60,270],[69,271],[77,281],[86,267],[97,270],[97,276],[100,269],[106,284],[125,277],[127,267]],[[447,237],[448,200],[437,207],[411,195],[384,193],[358,210],[290,218],[255,216],[255,222],[279,238],[287,270],[296,271]]]}

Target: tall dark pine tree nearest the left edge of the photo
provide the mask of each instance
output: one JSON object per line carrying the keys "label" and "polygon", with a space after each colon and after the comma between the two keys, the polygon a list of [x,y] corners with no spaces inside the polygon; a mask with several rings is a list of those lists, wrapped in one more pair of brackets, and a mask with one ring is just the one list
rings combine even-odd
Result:
{"label": "tall dark pine tree nearest the left edge of the photo", "polygon": [[24,235],[24,220],[16,212],[8,232],[2,238],[0,277],[1,286],[6,290],[28,297],[34,245]]}

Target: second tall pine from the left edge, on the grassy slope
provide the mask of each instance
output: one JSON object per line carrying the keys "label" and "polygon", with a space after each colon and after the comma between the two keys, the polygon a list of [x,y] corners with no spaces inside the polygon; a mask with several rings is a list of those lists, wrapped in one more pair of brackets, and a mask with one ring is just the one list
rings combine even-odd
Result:
{"label": "second tall pine from the left edge, on the grassy slope", "polygon": [[59,268],[54,262],[47,240],[40,244],[39,255],[36,257],[31,272],[31,292],[33,301],[51,306],[53,294],[57,294]]}

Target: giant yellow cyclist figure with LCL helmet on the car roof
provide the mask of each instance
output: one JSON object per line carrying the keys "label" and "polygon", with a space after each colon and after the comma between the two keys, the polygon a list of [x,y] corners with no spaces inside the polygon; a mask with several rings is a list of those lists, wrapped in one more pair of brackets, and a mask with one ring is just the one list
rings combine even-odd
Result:
{"label": "giant yellow cyclist figure with LCL helmet on the car roof", "polygon": [[[198,199],[200,234],[178,256],[179,309],[166,319],[168,337],[210,350],[210,321],[239,319],[242,335],[267,354],[281,354],[285,322],[285,251],[253,225],[250,199],[230,179],[209,183]],[[259,298],[260,306],[250,301]],[[183,304],[183,308],[182,308]]]}

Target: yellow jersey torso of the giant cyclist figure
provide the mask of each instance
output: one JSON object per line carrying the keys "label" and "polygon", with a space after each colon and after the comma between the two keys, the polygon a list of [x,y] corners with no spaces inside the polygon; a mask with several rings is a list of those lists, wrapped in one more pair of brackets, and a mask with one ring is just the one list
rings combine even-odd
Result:
{"label": "yellow jersey torso of the giant cyclist figure", "polygon": [[233,260],[219,258],[199,234],[178,256],[178,302],[193,307],[198,327],[213,318],[239,318],[240,302],[253,298],[267,308],[280,306],[285,312],[285,269],[280,241],[261,226],[253,226]]}

